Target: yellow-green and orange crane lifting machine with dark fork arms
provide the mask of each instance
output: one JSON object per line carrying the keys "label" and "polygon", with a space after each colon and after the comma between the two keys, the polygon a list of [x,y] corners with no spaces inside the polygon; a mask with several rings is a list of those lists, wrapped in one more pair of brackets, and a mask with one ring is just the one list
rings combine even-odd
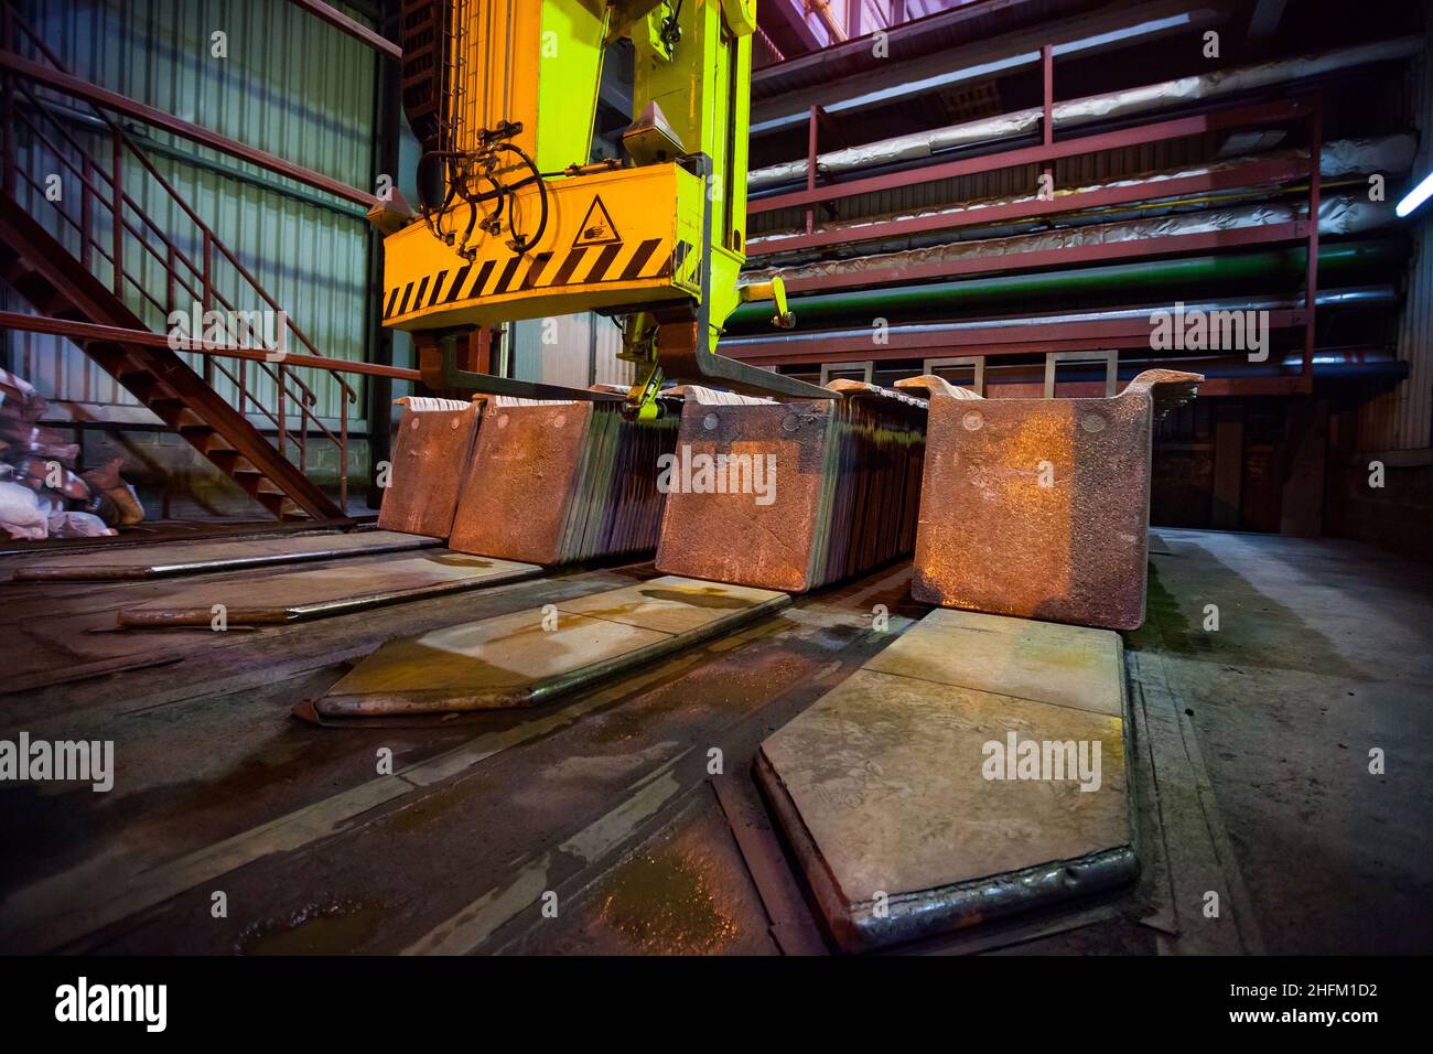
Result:
{"label": "yellow-green and orange crane lifting machine with dark fork arms", "polygon": [[[636,364],[629,416],[658,413],[666,377],[833,397],[714,351],[744,298],[755,22],[755,0],[406,0],[418,201],[370,218],[385,235],[384,324],[413,333],[431,387],[620,399],[459,366],[476,327],[599,311]],[[635,50],[636,115],[626,156],[592,163],[603,53],[619,39]],[[759,295],[791,324],[780,285]]]}

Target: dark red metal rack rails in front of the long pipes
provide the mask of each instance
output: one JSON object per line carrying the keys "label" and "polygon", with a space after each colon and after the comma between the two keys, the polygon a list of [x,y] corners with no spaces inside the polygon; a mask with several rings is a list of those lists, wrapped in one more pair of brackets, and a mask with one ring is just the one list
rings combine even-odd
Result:
{"label": "dark red metal rack rails in front of the long pipes", "polygon": [[[1262,224],[1248,228],[1228,231],[1214,231],[1207,234],[1174,234],[1144,238],[1136,241],[1103,242],[1096,245],[1080,245],[1070,248],[1032,250],[1025,252],[1009,252],[1003,255],[966,257],[962,260],[934,262],[901,262],[886,268],[871,268],[850,272],[820,274],[813,277],[795,277],[785,280],[788,294],[820,294],[848,288],[864,288],[878,284],[904,284],[934,280],[957,278],[969,274],[987,274],[997,271],[1033,270],[1048,267],[1069,267],[1093,262],[1118,262],[1125,260],[1139,260],[1148,257],[1174,255],[1184,252],[1205,252],[1245,245],[1262,245],[1278,242],[1304,242],[1307,251],[1307,268],[1304,275],[1303,307],[1294,311],[1277,313],[1285,320],[1287,327],[1300,327],[1304,331],[1304,356],[1298,377],[1277,379],[1278,384],[1288,391],[1308,393],[1313,390],[1314,377],[1314,347],[1315,347],[1315,303],[1318,298],[1318,201],[1320,201],[1320,169],[1323,155],[1323,105],[1317,96],[1277,99],[1273,102],[1251,103],[1212,103],[1205,105],[1192,113],[1181,116],[1161,118],[1151,113],[1144,123],[1132,125],[1108,132],[1088,132],[1076,129],[1070,135],[1056,136],[1055,110],[1055,49],[1045,44],[1040,49],[1042,79],[1043,79],[1043,120],[1040,122],[1040,142],[1033,145],[1012,146],[992,153],[959,152],[949,161],[933,161],[931,163],[904,168],[878,175],[847,175],[844,179],[821,179],[820,175],[820,142],[818,132],[824,113],[818,106],[811,106],[807,118],[807,158],[805,158],[805,186],[802,189],[765,194],[747,204],[748,228],[751,218],[768,212],[790,211],[794,214],[792,224],[804,225],[804,229],[794,235],[762,242],[759,231],[748,231],[747,257],[758,260],[765,255],[792,252],[798,250],[830,250],[833,247],[850,247],[857,242],[868,242],[880,238],[911,237],[933,231],[964,227],[980,227],[986,224],[1007,224],[1036,218],[1049,218],[1066,212],[1082,209],[1105,208],[1111,205],[1145,201],[1154,196],[1174,198],[1178,195],[1197,195],[1209,191],[1228,191],[1245,186],[1262,186],[1273,184],[1307,182],[1308,215],[1304,219],[1284,224]],[[827,228],[818,229],[815,209],[824,208],[835,217],[835,204],[848,201],[864,194],[880,194],[901,188],[930,185],[944,179],[970,176],[995,172],[1007,168],[1037,165],[1043,174],[1050,176],[1053,188],[1053,163],[1066,158],[1079,158],[1101,153],[1105,151],[1122,149],[1128,146],[1142,146],[1164,141],[1181,139],[1208,132],[1222,132],[1245,128],[1267,128],[1270,125],[1303,126],[1308,135],[1307,158],[1260,159],[1251,158],[1238,168],[1218,172],[1204,172],[1185,178],[1166,179],[1156,185],[1142,185],[1135,182],[1113,184],[1106,188],[1062,194],[1059,196],[1039,198],[1029,196],[1022,201],[1007,204],[972,208],[964,212],[937,212],[926,217],[904,217],[898,219],[871,221],[858,228]],[[1105,324],[1075,324],[1075,326],[1042,326],[1030,327],[1039,336],[1026,340],[1023,337],[1006,340],[1000,336],[982,336],[982,354],[1029,354],[1033,351],[1073,350],[1063,344],[1066,338],[1086,341],[1088,347],[1106,348],[1111,341],[1129,340],[1141,336],[1138,331],[1125,333],[1125,323]],[[995,331],[997,327],[992,327]],[[1078,334],[1078,336],[1075,336]],[[1148,334],[1148,327],[1145,330]],[[936,341],[933,346],[949,344],[949,336],[929,336],[917,340]],[[911,346],[900,347],[894,340],[887,343],[876,359],[900,359],[901,351],[907,356],[917,348],[929,347],[913,340]],[[782,364],[813,364],[824,361],[864,361],[871,356],[870,336],[833,337],[830,340],[811,340],[801,346],[800,351],[794,346],[778,346],[774,341],[759,338],[727,338],[722,347],[735,359],[759,363],[768,369],[778,369]],[[1262,394],[1258,386],[1264,380],[1241,381],[1250,393]],[[1209,386],[1212,389],[1212,386]]]}

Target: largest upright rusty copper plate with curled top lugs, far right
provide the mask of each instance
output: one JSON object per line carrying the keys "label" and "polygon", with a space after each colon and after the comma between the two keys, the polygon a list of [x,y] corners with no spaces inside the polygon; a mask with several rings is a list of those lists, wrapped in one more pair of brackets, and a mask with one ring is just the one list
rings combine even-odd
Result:
{"label": "largest upright rusty copper plate with curled top lugs, far right", "polygon": [[[1156,409],[1198,374],[1149,370],[1113,399],[930,393],[911,595],[927,604],[1134,630],[1145,617]],[[1156,407],[1158,399],[1158,407]]]}

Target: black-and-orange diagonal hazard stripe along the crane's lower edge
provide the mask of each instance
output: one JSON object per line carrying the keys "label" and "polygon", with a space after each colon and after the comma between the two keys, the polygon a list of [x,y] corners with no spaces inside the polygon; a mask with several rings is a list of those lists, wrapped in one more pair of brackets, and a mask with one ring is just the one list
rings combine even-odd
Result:
{"label": "black-and-orange diagonal hazard stripe along the crane's lower edge", "polygon": [[[686,242],[681,245],[686,245],[689,254],[691,247]],[[484,260],[457,270],[446,268],[388,290],[383,317],[398,318],[438,304],[529,290],[669,278],[675,271],[674,257],[658,255],[661,247],[662,238],[649,238],[631,250],[623,242],[576,245],[565,254],[513,255],[502,262]]]}

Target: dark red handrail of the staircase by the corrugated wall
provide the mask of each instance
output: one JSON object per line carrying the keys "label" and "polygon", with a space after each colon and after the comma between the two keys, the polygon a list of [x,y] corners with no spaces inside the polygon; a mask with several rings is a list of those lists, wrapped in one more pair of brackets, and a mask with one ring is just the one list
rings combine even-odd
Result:
{"label": "dark red handrail of the staircase by the corrugated wall", "polygon": [[[4,50],[17,53],[17,47],[29,49],[33,52],[30,57],[43,59],[56,70],[67,73],[54,52],[13,7],[9,4],[0,7],[0,19],[3,19],[0,46]],[[107,271],[116,297],[132,308],[138,307],[140,315],[150,310],[158,311],[165,320],[160,328],[168,327],[173,311],[185,310],[182,301],[188,297],[191,305],[198,305],[201,320],[211,311],[221,313],[219,318],[224,320],[225,331],[235,346],[265,351],[272,350],[272,346],[265,334],[254,330],[248,315],[268,311],[275,326],[272,337],[282,340],[285,348],[294,348],[307,359],[324,357],[249,268],[107,113],[83,100],[67,100],[87,108],[86,115],[92,115],[93,123],[103,128],[99,135],[107,139],[109,149],[106,156],[99,158],[96,151],[86,149],[80,141],[82,136],[93,133],[73,133],[70,128],[73,118],[57,116],[54,103],[40,98],[21,77],[6,72],[0,95],[3,95],[0,108],[4,120],[0,149],[4,153],[6,191],[19,199],[17,189],[23,184],[29,188],[29,196],[36,206],[42,204],[52,206],[60,218],[62,228],[72,228],[79,235],[77,255],[86,270],[97,277]],[[21,130],[29,135],[27,156],[21,156],[19,143]],[[46,194],[47,188],[36,178],[36,172],[56,171],[53,165],[40,163],[46,158],[53,158],[59,168],[77,179],[80,188],[77,217],[73,215],[69,196],[52,201]],[[185,252],[176,241],[179,232],[166,232],[126,191],[126,181],[135,185],[132,176],[126,175],[126,165],[130,161],[136,162],[152,181],[152,186],[158,188],[160,199],[168,199],[189,221],[192,227],[188,231],[188,241],[191,245],[198,242],[198,252],[193,255]],[[142,196],[148,196],[149,192],[152,188],[146,186]],[[40,215],[39,208],[33,212]],[[132,247],[128,255],[126,247]],[[156,288],[160,283],[155,280],[155,264],[162,290]],[[229,283],[221,280],[221,270]],[[225,288],[229,295],[225,294]],[[244,310],[236,304],[244,304]],[[284,327],[282,331],[277,328],[279,324]],[[202,334],[189,336],[198,340]],[[311,437],[337,447],[340,508],[347,508],[348,407],[358,402],[357,390],[335,370],[294,366],[285,361],[287,356],[274,360],[232,357],[229,363],[222,361],[222,356],[214,354],[203,354],[201,359],[205,381],[215,387],[216,380],[222,379],[229,389],[225,394],[228,402],[241,414],[257,420],[261,430],[269,427],[275,433],[278,452],[292,460],[299,472],[308,470]],[[337,427],[321,419],[318,396],[298,376],[297,370],[301,369],[314,370],[311,376],[321,379],[317,383],[337,386]],[[222,391],[219,387],[215,390]]]}

